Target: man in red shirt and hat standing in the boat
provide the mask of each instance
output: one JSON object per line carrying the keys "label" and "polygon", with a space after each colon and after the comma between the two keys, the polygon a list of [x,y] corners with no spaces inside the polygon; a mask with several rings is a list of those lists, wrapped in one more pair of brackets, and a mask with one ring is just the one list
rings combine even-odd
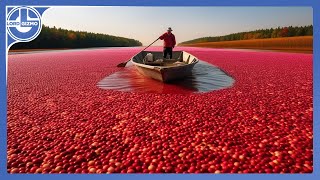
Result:
{"label": "man in red shirt and hat standing in the boat", "polygon": [[171,27],[168,28],[167,32],[162,34],[159,39],[163,40],[163,58],[167,58],[169,54],[170,59],[172,59],[172,49],[176,45],[176,37],[171,33]]}

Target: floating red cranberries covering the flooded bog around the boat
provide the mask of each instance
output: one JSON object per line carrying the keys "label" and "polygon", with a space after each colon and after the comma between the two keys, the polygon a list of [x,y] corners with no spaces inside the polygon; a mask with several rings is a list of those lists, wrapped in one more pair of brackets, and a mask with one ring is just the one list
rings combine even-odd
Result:
{"label": "floating red cranberries covering the flooded bog around the boat", "polygon": [[97,87],[140,48],[9,55],[7,171],[313,171],[312,54],[180,49],[220,67],[233,86],[206,93]]}

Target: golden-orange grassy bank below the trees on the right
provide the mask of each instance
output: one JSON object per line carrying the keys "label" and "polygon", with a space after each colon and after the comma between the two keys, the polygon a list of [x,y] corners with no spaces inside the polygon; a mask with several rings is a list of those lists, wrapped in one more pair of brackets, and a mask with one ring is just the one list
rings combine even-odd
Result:
{"label": "golden-orange grassy bank below the trees on the right", "polygon": [[193,44],[180,44],[180,46],[206,47],[206,48],[235,48],[235,49],[261,49],[285,52],[313,52],[313,36],[250,39],[238,41],[204,42]]}

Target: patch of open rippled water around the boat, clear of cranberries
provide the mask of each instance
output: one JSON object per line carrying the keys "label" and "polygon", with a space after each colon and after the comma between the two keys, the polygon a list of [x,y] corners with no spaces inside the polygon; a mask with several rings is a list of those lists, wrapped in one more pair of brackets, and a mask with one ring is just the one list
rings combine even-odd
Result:
{"label": "patch of open rippled water around the boat, clear of cranberries", "polygon": [[232,77],[204,61],[194,66],[191,76],[169,84],[144,77],[129,62],[125,68],[103,78],[98,87],[124,92],[204,93],[228,88],[233,83]]}

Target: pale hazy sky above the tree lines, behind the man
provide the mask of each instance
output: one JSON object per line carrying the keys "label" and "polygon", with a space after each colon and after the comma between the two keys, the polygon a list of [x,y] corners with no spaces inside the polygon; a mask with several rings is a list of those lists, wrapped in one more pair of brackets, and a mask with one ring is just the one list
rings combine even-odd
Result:
{"label": "pale hazy sky above the tree lines, behind the man", "polygon": [[[311,7],[51,7],[43,24],[133,38],[144,45],[172,27],[177,42],[313,24]],[[155,45],[161,45],[161,42]]]}

